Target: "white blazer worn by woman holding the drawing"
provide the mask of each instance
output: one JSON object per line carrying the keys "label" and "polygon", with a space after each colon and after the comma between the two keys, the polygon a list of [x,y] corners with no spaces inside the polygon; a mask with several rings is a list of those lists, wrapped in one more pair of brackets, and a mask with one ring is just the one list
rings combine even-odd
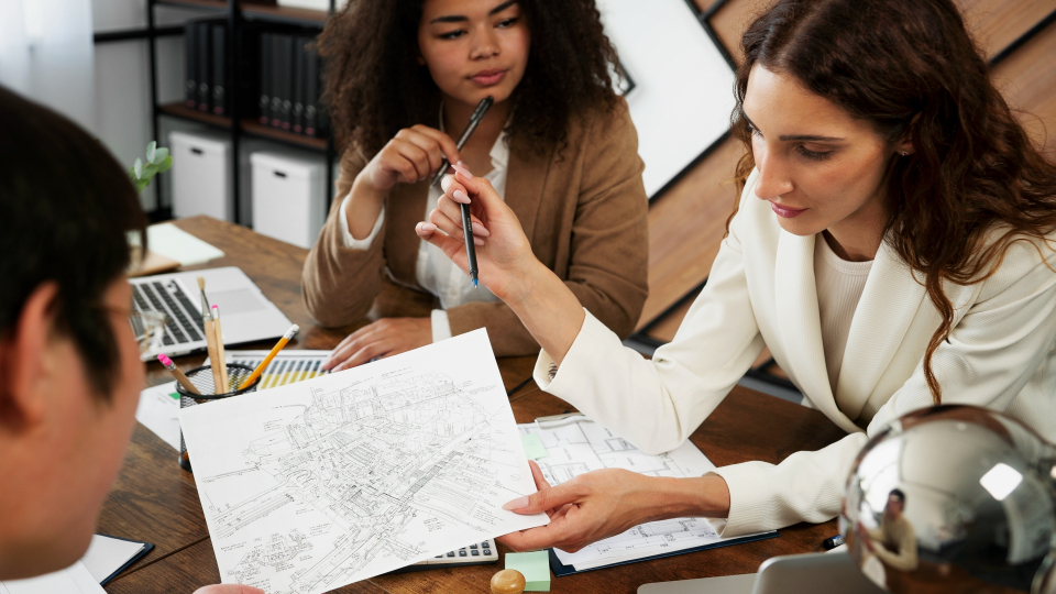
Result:
{"label": "white blazer worn by woman holding the drawing", "polygon": [[[932,405],[922,361],[941,320],[921,283],[882,244],[855,310],[834,393],[818,319],[815,237],[783,231],[769,204],[756,197],[757,178],[758,172],[748,178],[707,285],[674,340],[651,361],[624,348],[587,312],[554,378],[546,352],[535,370],[542,389],[659,453],[685,441],[769,346],[810,403],[850,435],[777,465],[718,469],[730,493],[724,536],[836,516],[867,435]],[[932,367],[944,404],[1002,410],[1056,441],[1056,272],[1036,248],[1056,267],[1053,250],[1022,241],[989,279],[945,287],[956,307],[954,326]]]}

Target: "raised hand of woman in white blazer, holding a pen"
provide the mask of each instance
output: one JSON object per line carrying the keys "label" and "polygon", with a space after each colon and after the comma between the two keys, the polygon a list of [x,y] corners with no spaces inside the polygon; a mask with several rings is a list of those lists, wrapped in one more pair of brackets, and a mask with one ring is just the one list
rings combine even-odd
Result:
{"label": "raised hand of woman in white blazer, holding a pen", "polygon": [[418,223],[416,231],[469,274],[460,205],[470,205],[480,280],[499,299],[514,305],[530,290],[532,275],[546,267],[536,260],[520,221],[492,184],[461,165],[453,167],[455,176],[444,177],[438,208],[429,213],[429,222]]}

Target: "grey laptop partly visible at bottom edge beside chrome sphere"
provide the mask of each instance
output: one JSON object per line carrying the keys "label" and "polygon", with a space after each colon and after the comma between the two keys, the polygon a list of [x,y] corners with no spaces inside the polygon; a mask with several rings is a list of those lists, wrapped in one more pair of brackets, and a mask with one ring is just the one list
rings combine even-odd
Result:
{"label": "grey laptop partly visible at bottom edge beside chrome sphere", "polygon": [[884,594],[846,552],[768,559],[759,573],[644,584],[638,594]]}

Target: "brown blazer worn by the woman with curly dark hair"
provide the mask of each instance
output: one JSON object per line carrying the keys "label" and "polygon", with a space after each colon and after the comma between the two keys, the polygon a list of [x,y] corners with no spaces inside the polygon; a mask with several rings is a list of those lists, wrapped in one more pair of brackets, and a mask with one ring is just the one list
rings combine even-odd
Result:
{"label": "brown blazer worn by the woman with curly dark hair", "polygon": [[[338,213],[367,158],[345,151],[337,199],[308,254],[302,274],[308,311],[323,326],[367,317],[428,317],[439,300],[415,277],[428,182],[397,184],[385,200],[385,221],[367,250],[344,248]],[[626,103],[613,114],[574,121],[568,145],[538,156],[515,136],[506,204],[532,252],[565,282],[580,302],[616,334],[627,337],[648,295],[648,198],[641,182],[638,134]],[[466,280],[469,282],[469,280]],[[452,334],[487,328],[496,356],[535,354],[539,345],[502,301],[448,310]]]}

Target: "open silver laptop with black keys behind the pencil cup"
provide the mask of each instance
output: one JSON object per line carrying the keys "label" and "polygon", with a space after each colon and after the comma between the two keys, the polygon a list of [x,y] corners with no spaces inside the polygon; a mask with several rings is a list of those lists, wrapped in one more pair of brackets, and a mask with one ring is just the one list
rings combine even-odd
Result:
{"label": "open silver laptop with black keys behind the pencil cup", "polygon": [[206,349],[199,276],[206,279],[209,305],[220,308],[224,344],[277,339],[289,330],[289,319],[234,266],[130,278],[132,306],[167,318],[161,348],[144,353],[143,361],[158,353],[176,356]]}

